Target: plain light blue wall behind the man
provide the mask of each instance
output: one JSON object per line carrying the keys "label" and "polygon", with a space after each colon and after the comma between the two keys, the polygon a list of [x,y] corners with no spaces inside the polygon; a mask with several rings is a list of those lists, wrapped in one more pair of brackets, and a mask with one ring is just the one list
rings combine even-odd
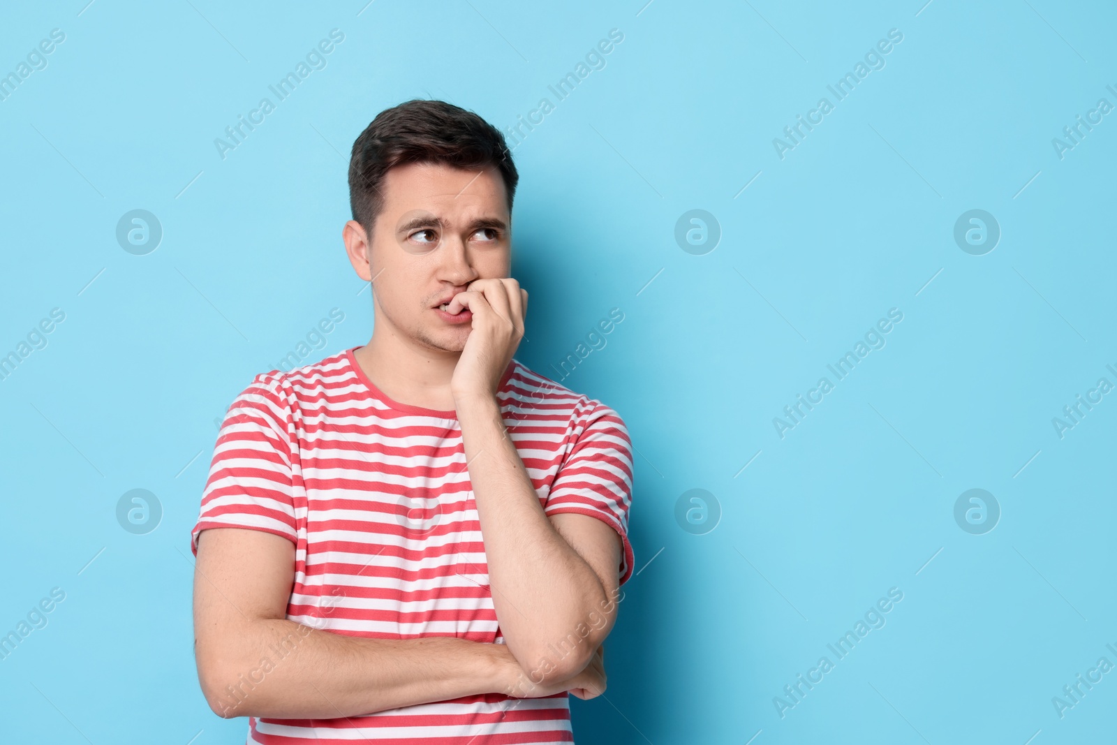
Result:
{"label": "plain light blue wall behind the man", "polygon": [[[1051,144],[1117,105],[1111,3],[85,1],[0,10],[0,74],[66,34],[0,102],[0,354],[66,314],[0,381],[0,633],[66,592],[0,661],[0,739],[244,741],[198,687],[189,531],[232,397],[331,308],[307,362],[370,336],[341,242],[353,140],[413,97],[513,125],[612,28],[515,151],[517,359],[556,378],[624,313],[562,381],[639,452],[640,573],[608,691],[572,699],[577,742],[1111,735],[1117,671],[1051,703],[1117,663],[1117,394],[1061,439],[1051,422],[1117,383],[1117,113]],[[214,137],[333,28],[326,68],[222,160]],[[886,67],[781,160],[773,137],[894,28]],[[146,256],[115,239],[133,209],[164,231]],[[703,256],[674,237],[691,209],[722,229]],[[984,256],[954,242],[971,209],[1001,227]],[[887,345],[781,439],[772,419],[892,307]],[[146,535],[116,522],[133,488],[163,507]],[[691,488],[720,505],[705,535],[675,519]],[[954,519],[970,488],[1002,509],[984,535]],[[887,624],[781,718],[773,697],[889,588]]]}

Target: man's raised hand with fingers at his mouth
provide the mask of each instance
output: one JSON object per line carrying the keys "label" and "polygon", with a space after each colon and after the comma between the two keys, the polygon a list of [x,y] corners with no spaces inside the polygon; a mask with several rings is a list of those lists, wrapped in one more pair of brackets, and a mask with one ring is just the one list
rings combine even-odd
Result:
{"label": "man's raised hand with fingers at his mouth", "polygon": [[500,378],[524,337],[527,290],[508,277],[477,279],[450,300],[449,313],[469,308],[472,331],[450,379],[456,401],[495,398]]}

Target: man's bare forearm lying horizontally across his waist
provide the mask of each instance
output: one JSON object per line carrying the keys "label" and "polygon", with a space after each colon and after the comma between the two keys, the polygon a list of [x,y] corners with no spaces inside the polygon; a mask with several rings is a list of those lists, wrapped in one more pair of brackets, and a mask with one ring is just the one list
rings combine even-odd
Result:
{"label": "man's bare forearm lying horizontally across his waist", "polygon": [[454,637],[356,638],[283,619],[245,621],[204,657],[203,693],[226,718],[373,714],[505,693],[519,672],[504,644]]}

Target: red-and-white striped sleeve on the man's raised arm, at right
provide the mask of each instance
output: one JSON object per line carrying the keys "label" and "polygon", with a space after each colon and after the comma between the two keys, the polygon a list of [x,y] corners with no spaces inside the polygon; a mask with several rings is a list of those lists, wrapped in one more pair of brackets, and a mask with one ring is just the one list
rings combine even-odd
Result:
{"label": "red-and-white striped sleeve on the man's raised arm, at right", "polygon": [[615,411],[598,402],[581,434],[560,466],[543,506],[547,515],[577,513],[596,517],[621,536],[620,584],[632,575],[632,544],[628,537],[632,505],[632,443]]}

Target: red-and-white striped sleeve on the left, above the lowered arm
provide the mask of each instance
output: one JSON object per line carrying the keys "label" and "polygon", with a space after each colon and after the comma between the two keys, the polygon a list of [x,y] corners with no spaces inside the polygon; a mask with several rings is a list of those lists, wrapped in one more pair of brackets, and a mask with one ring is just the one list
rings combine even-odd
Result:
{"label": "red-and-white striped sleeve on the left, above the lowered arm", "polygon": [[292,409],[269,374],[257,375],[229,407],[213,447],[190,547],[211,527],[265,531],[297,543]]}

